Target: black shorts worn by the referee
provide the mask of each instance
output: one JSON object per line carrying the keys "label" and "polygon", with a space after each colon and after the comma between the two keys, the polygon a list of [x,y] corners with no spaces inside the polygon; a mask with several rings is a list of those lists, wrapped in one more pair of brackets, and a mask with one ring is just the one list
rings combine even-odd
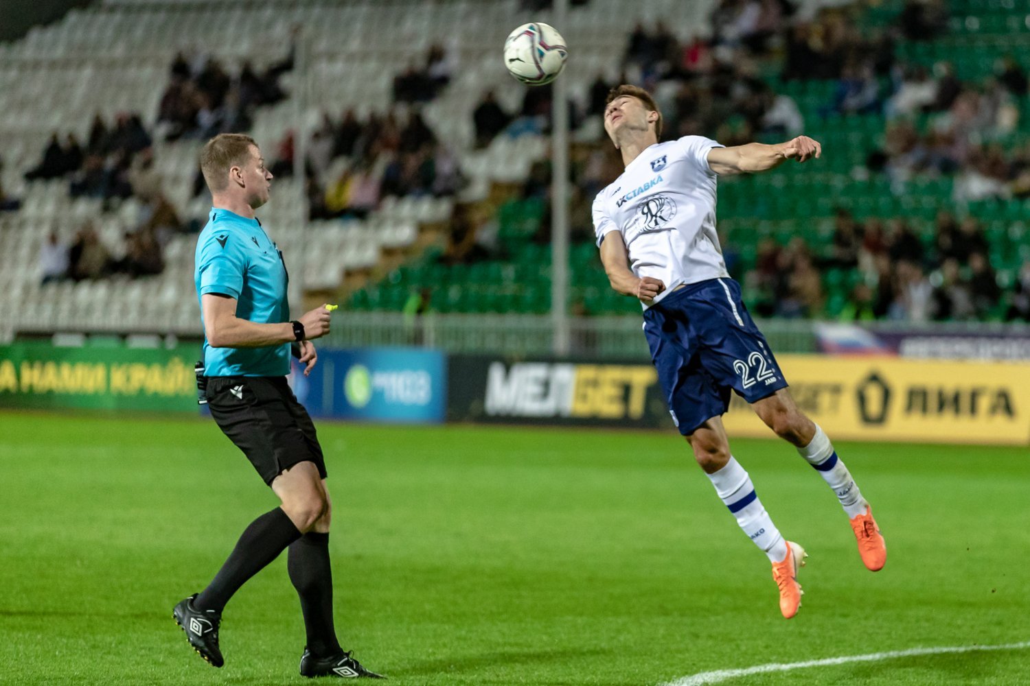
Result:
{"label": "black shorts worn by the referee", "polygon": [[206,395],[215,424],[265,483],[301,462],[313,462],[325,478],[315,425],[285,376],[210,376]]}

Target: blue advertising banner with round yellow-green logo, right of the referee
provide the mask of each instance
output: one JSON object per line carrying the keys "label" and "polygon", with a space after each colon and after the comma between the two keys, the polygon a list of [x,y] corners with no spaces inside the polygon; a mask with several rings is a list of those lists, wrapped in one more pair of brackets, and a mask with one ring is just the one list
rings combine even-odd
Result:
{"label": "blue advertising banner with round yellow-green logo, right of the referee", "polygon": [[436,424],[447,408],[444,355],[421,348],[319,350],[305,377],[290,385],[313,417]]}

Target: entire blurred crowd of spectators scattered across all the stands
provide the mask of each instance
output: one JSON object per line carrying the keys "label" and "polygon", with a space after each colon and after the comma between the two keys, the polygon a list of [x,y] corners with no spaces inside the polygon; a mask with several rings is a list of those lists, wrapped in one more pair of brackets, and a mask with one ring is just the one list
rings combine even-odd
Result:
{"label": "entire blurred crowd of spectators scattered across all the stands", "polygon": [[[906,64],[896,58],[896,46],[946,32],[947,3],[907,0],[890,26],[873,29],[855,21],[861,6],[824,9],[802,20],[792,0],[721,0],[711,15],[712,34],[688,41],[660,21],[638,24],[627,39],[622,73],[616,79],[596,76],[584,101],[571,103],[571,125],[579,130],[591,119],[596,122],[610,88],[623,82],[641,84],[654,95],[662,109],[663,140],[703,135],[736,145],[825,130],[842,115],[883,121],[881,140],[869,141],[864,169],[854,173],[884,173],[898,194],[920,176],[954,177],[953,196],[943,202],[948,209],[937,216],[933,236],[905,217],[860,222],[838,210],[829,245],[809,245],[795,237],[786,245],[764,239],[757,246],[753,268],[734,274],[745,285],[749,304],[763,317],[1030,320],[1030,261],[1008,275],[1009,288],[1003,293],[984,228],[964,211],[968,202],[1030,195],[1030,144],[1010,144],[1028,95],[1025,70],[1006,56],[989,78],[968,82],[947,61],[932,67]],[[145,131],[138,115],[123,114],[110,125],[98,116],[84,144],[74,135],[55,133],[27,178],[67,179],[73,195],[134,194],[145,201],[146,211],[139,229],[126,236],[115,255],[89,224],[70,246],[52,237],[41,264],[44,279],[160,273],[160,246],[170,231],[181,230],[182,222],[152,171],[151,139],[203,140],[245,131],[254,108],[286,97],[278,81],[293,68],[293,56],[291,48],[263,71],[245,63],[232,72],[211,56],[187,59],[180,53],[170,68],[156,132]],[[779,61],[768,60],[770,56]],[[779,65],[775,77],[771,64]],[[455,68],[452,51],[433,45],[394,77],[394,104],[388,111],[323,114],[307,141],[303,165],[312,219],[363,218],[388,195],[446,196],[461,188],[465,178],[455,155],[420,111],[447,87]],[[787,95],[790,88],[780,87],[801,79],[834,84],[821,107],[813,110],[809,104],[804,114]],[[550,86],[525,88],[515,111],[507,111],[487,92],[470,113],[474,145],[485,147],[499,136],[546,134],[551,107]],[[595,142],[578,143],[571,151],[574,242],[592,242],[590,204],[622,172],[617,151],[596,133]],[[272,149],[272,173],[294,174],[295,133],[287,132]],[[550,241],[550,187],[545,159],[534,165],[517,193],[545,208],[530,239],[538,244]],[[202,189],[198,174],[195,191]],[[0,210],[4,203],[16,201],[5,200],[0,189]],[[459,204],[450,225],[444,262],[506,257],[496,240],[497,222],[487,208]],[[736,272],[740,246],[726,237],[724,248],[731,272]],[[844,301],[840,293],[847,296]],[[578,306],[582,310],[582,303]]]}

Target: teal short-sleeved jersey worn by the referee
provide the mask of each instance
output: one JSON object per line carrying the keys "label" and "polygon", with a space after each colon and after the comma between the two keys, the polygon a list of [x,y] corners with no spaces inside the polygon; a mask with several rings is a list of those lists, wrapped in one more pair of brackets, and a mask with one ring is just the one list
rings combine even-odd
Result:
{"label": "teal short-sleeved jersey worn by the referee", "polygon": [[[289,276],[278,246],[261,222],[212,208],[197,239],[194,259],[197,299],[206,293],[236,298],[236,316],[259,324],[289,321]],[[201,322],[204,309],[201,305]],[[289,344],[267,348],[212,348],[204,338],[208,376],[284,376],[289,373]]]}

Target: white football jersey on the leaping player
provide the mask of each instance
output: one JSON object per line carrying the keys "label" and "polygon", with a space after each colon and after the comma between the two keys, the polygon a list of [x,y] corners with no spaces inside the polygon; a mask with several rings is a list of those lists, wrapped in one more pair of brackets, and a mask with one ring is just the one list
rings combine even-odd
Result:
{"label": "white football jersey on the leaping player", "polygon": [[708,164],[709,151],[721,147],[702,136],[652,145],[593,201],[597,246],[619,231],[633,274],[665,284],[653,302],[681,284],[729,276],[715,230],[717,175]]}

